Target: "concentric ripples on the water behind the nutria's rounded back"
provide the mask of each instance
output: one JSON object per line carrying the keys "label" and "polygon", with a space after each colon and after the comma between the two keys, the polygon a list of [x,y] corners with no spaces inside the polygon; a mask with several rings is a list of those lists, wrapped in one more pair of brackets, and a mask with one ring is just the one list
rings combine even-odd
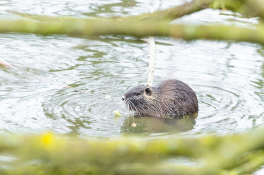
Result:
{"label": "concentric ripples on the water behind the nutria's rounded back", "polygon": [[[200,91],[201,89],[202,91]],[[237,127],[238,119],[241,117],[239,116],[240,110],[244,107],[245,101],[239,94],[220,87],[199,85],[197,96],[199,116],[196,128],[202,127],[199,132],[212,131],[212,128],[219,132],[225,132],[230,128]],[[202,126],[198,120],[202,121]]]}

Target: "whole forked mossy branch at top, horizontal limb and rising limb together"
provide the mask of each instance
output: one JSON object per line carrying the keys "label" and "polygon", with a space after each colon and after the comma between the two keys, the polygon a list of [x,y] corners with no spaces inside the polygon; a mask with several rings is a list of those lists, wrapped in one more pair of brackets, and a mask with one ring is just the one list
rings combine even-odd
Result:
{"label": "whole forked mossy branch at top, horizontal limb and rising limb together", "polygon": [[[13,12],[29,19],[0,20],[0,32],[36,34],[107,35],[125,34],[137,37],[172,36],[186,40],[219,39],[263,44],[264,25],[180,25],[170,21],[204,8],[226,8],[247,16],[264,18],[262,0],[193,0],[176,7],[128,17],[76,18],[68,16],[31,15]],[[36,20],[32,20],[36,19]],[[39,20],[39,21],[37,21]]]}

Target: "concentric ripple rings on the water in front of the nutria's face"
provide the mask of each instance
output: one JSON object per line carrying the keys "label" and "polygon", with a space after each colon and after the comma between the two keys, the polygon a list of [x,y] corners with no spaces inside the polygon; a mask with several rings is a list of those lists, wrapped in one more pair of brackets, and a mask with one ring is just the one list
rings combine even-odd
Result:
{"label": "concentric ripple rings on the water in front of the nutria's face", "polygon": [[[105,106],[108,108],[104,108]],[[71,134],[87,134],[90,136],[119,132],[119,128],[107,130],[114,122],[109,117],[117,106],[110,96],[96,93],[94,89],[61,89],[50,96],[50,99],[42,103],[44,114],[53,120],[59,120]],[[103,109],[103,110],[102,110]],[[63,130],[60,125],[58,130]]]}

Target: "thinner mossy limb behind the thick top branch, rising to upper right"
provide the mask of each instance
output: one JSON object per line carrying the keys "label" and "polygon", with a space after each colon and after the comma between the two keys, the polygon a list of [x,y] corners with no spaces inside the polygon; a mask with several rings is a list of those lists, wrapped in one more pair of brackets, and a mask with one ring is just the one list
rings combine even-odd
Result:
{"label": "thinner mossy limb behind the thick top branch, rising to upper right", "polygon": [[[191,14],[193,12],[205,9],[228,9],[234,12],[239,12],[241,14],[247,15],[248,17],[258,16],[264,19],[264,3],[262,0],[192,0],[190,2],[183,3],[174,7],[167,9],[157,10],[150,13],[139,14],[135,16],[114,16],[108,18],[96,17],[96,19],[116,19],[121,20],[148,20],[148,21],[157,21],[157,20],[173,20],[181,16]],[[46,15],[37,15],[37,14],[28,14],[21,13],[14,10],[8,10],[8,12],[17,14],[23,17],[40,20],[40,21],[58,21],[58,20],[74,20],[78,19],[72,16],[46,16]]]}

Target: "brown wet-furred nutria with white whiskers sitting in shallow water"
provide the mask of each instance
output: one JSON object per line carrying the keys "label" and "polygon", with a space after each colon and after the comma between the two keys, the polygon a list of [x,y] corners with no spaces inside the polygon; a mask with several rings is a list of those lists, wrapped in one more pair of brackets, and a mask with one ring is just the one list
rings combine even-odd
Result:
{"label": "brown wet-furred nutria with white whiskers sitting in shallow water", "polygon": [[140,116],[183,116],[198,111],[195,92],[176,79],[164,80],[154,87],[134,86],[122,100]]}

